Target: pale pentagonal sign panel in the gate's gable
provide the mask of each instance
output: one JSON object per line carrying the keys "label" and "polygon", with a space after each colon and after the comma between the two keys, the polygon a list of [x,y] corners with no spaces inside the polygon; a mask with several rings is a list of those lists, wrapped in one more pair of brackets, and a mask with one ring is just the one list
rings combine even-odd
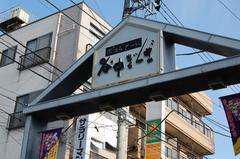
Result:
{"label": "pale pentagonal sign panel in the gate's gable", "polygon": [[127,25],[96,49],[92,87],[103,88],[160,74],[160,30]]}

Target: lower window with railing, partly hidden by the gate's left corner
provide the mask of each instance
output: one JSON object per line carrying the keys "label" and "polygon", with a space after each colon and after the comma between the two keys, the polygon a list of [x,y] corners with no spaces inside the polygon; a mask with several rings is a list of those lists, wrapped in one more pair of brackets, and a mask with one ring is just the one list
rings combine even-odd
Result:
{"label": "lower window with railing, partly hidden by the gate's left corner", "polygon": [[20,128],[25,125],[26,116],[23,114],[23,109],[27,107],[42,91],[33,92],[19,96],[16,99],[14,113],[9,115],[8,129]]}

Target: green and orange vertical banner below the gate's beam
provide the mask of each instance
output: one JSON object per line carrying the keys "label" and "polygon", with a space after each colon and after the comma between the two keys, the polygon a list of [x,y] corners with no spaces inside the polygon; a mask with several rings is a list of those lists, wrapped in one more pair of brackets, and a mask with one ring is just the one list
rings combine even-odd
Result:
{"label": "green and orange vertical banner below the gate's beam", "polygon": [[161,120],[147,122],[146,159],[161,158]]}

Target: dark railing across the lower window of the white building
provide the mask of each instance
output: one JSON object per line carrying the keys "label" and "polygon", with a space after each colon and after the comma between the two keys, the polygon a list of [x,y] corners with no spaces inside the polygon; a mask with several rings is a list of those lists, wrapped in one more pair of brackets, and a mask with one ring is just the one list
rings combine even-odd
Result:
{"label": "dark railing across the lower window of the white building", "polygon": [[24,127],[25,120],[26,120],[26,116],[23,114],[23,112],[16,112],[16,113],[9,114],[7,129],[11,130],[11,129]]}

